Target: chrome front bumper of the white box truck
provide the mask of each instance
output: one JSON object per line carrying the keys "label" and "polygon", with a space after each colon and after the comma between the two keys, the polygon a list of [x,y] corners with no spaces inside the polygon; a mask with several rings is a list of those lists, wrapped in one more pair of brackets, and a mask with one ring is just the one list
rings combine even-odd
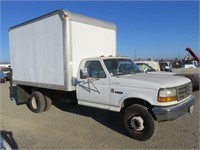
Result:
{"label": "chrome front bumper of the white box truck", "polygon": [[194,107],[195,96],[190,96],[186,101],[167,107],[156,106],[152,108],[154,115],[158,121],[166,121],[176,119],[188,112],[191,112],[192,107]]}

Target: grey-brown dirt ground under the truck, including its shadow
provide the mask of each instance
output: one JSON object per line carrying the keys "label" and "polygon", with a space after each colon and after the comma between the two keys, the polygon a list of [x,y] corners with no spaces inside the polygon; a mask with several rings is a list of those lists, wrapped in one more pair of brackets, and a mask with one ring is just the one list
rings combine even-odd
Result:
{"label": "grey-brown dirt ground under the truck, including its shadow", "polygon": [[145,142],[128,137],[121,115],[56,102],[35,114],[9,99],[9,84],[0,84],[0,130],[14,149],[200,149],[199,91],[194,112],[158,123],[156,135]]}

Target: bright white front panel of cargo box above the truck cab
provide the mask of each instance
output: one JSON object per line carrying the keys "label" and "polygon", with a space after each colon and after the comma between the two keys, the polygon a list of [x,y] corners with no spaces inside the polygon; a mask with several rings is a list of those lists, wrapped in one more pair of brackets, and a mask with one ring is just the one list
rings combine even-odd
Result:
{"label": "bright white front panel of cargo box above the truck cab", "polygon": [[71,21],[73,76],[83,58],[116,55],[116,30]]}

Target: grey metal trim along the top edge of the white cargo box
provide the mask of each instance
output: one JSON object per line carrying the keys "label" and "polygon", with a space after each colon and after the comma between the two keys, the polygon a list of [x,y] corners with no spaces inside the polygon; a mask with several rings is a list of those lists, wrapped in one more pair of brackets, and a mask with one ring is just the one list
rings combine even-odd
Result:
{"label": "grey metal trim along the top edge of the white cargo box", "polygon": [[95,25],[95,26],[99,26],[99,27],[104,27],[104,28],[116,30],[116,25],[114,23],[106,22],[106,21],[103,21],[103,20],[100,20],[100,19],[88,17],[88,16],[81,15],[81,14],[77,14],[77,13],[71,12],[69,10],[58,9],[58,10],[52,11],[48,14],[36,17],[34,19],[28,20],[26,22],[20,23],[20,24],[15,25],[15,26],[12,26],[12,27],[9,28],[9,31],[13,30],[15,28],[19,28],[19,27],[28,25],[30,23],[42,20],[44,18],[56,15],[56,14],[59,14],[59,16],[62,20],[63,20],[63,18],[68,18],[69,20],[73,20],[73,21],[77,21],[77,22],[81,22],[81,23],[86,23],[86,24],[91,24],[91,25]]}

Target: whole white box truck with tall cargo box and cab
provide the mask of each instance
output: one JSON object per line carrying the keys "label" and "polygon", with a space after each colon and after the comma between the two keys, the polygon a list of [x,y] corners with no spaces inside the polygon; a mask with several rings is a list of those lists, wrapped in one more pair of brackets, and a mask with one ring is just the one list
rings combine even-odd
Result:
{"label": "whole white box truck with tall cargo box and cab", "polygon": [[144,73],[130,59],[115,57],[113,23],[57,10],[11,27],[9,38],[10,97],[35,113],[65,97],[121,112],[129,135],[148,140],[158,121],[193,110],[189,79]]}

